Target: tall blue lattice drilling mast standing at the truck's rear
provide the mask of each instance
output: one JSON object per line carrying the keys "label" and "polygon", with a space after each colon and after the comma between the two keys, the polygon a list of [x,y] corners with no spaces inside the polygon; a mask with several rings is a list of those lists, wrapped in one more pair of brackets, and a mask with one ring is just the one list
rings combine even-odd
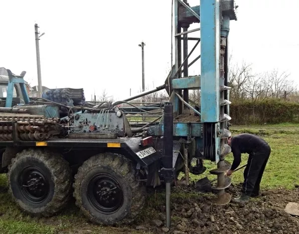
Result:
{"label": "tall blue lattice drilling mast standing at the truck's rear", "polygon": [[[196,113],[198,114],[198,122],[191,123],[192,132],[202,131],[204,124],[207,125],[203,131],[210,132],[208,135],[190,134],[187,131],[189,129],[187,125],[190,123],[187,122],[175,123],[174,132],[175,136],[187,136],[189,139],[190,137],[195,137],[197,148],[202,147],[204,150],[205,148],[212,147],[213,150],[208,149],[206,152],[212,152],[213,155],[208,153],[209,156],[206,156],[206,158],[218,162],[221,159],[223,143],[225,143],[223,140],[221,141],[221,130],[226,123],[225,121],[227,121],[227,119],[223,118],[223,113],[220,113],[224,105],[221,103],[223,93],[227,94],[225,99],[229,100],[227,87],[224,92],[221,91],[223,90],[223,86],[227,86],[227,84],[223,84],[223,73],[222,77],[220,77],[220,64],[223,61],[220,60],[220,36],[223,34],[227,36],[229,21],[236,19],[235,4],[233,0],[200,0],[200,5],[193,7],[189,7],[185,3],[186,0],[174,0],[175,65],[169,79],[170,102],[173,105],[174,117],[183,115],[184,108],[182,106],[185,105],[190,108],[190,105],[188,105],[188,96],[182,95],[182,91],[200,90],[200,105],[196,103],[197,107],[200,106],[200,115]],[[185,61],[188,61],[189,55],[194,51],[194,48],[190,52],[186,52],[187,47],[185,48],[182,43],[186,35],[189,35],[188,33],[196,33],[198,31],[197,29],[187,30],[191,23],[200,23],[200,38],[192,37],[190,40],[200,40],[201,75],[183,77],[182,68],[184,71],[188,70],[188,67],[194,62],[189,63],[188,67],[185,66]],[[182,28],[184,29],[183,31]],[[182,53],[182,50],[184,53]],[[221,58],[223,59],[223,57]],[[184,74],[188,74],[188,72],[184,72]],[[228,78],[226,77],[226,79]],[[225,114],[229,114],[228,104],[229,102],[225,104],[227,105]],[[194,103],[192,105],[194,106]],[[162,132],[162,125],[159,124],[150,127],[149,132],[153,135],[158,134],[157,132]],[[204,142],[208,142],[208,145]]]}

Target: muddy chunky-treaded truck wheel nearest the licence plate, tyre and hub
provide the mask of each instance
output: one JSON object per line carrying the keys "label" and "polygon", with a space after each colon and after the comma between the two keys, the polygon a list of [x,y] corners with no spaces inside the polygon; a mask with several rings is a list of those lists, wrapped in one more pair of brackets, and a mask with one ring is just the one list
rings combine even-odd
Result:
{"label": "muddy chunky-treaded truck wheel nearest the licence plate, tyre and hub", "polygon": [[86,160],[75,175],[76,205],[93,223],[130,223],[141,211],[145,187],[132,163],[121,155],[101,153]]}

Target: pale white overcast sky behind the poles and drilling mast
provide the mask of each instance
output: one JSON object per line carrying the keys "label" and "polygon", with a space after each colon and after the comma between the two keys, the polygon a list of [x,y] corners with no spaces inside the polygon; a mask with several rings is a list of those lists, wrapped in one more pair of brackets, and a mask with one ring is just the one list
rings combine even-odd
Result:
{"label": "pale white overcast sky behind the poles and drilling mast", "polygon": [[[257,72],[287,71],[299,80],[299,0],[236,3],[229,44],[234,62],[253,63]],[[37,85],[34,23],[45,32],[41,76],[48,88],[84,88],[88,100],[104,88],[115,99],[129,97],[130,88],[136,94],[142,86],[142,40],[146,86],[163,84],[169,72],[171,0],[1,0],[0,6],[0,67],[15,74],[25,70],[31,85]],[[190,67],[191,74],[199,71],[199,62]]]}

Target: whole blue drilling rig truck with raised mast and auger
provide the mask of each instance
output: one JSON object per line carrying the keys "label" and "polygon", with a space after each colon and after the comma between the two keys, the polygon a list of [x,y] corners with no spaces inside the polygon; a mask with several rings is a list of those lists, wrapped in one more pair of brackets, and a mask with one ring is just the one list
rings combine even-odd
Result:
{"label": "whole blue drilling rig truck with raised mast and auger", "polygon": [[[20,209],[48,217],[73,196],[92,222],[127,223],[141,211],[146,187],[162,184],[169,227],[171,184],[180,172],[189,171],[193,158],[194,174],[205,171],[204,160],[217,164],[210,171],[217,175],[215,203],[230,202],[225,192],[231,183],[225,176],[230,164],[224,160],[231,151],[228,34],[237,6],[234,0],[198,1],[200,5],[191,7],[186,0],[174,0],[175,64],[161,86],[135,97],[90,105],[76,103],[78,95],[72,98],[70,91],[58,89],[32,100],[24,73],[16,76],[8,70],[7,97],[0,107],[0,162]],[[200,28],[188,30],[192,23]],[[188,36],[198,31],[200,37]],[[196,41],[191,50],[189,41]],[[188,61],[198,44],[200,54]],[[201,74],[189,76],[188,68],[199,58]],[[15,87],[22,103],[13,97]],[[155,112],[159,120],[133,127],[121,104],[132,112],[150,113],[153,107],[130,101],[162,89],[169,102]],[[190,90],[200,90],[200,103],[189,100]]]}

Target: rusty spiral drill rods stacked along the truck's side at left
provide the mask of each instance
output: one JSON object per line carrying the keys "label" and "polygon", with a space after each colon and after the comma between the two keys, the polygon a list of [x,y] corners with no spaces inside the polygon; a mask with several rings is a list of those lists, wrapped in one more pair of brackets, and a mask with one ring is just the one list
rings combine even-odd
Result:
{"label": "rusty spiral drill rods stacked along the truck's side at left", "polygon": [[51,132],[58,130],[57,123],[59,123],[59,121],[59,118],[0,113],[0,140],[13,139],[13,122],[17,123],[15,130],[21,140],[45,140],[50,137]]}

